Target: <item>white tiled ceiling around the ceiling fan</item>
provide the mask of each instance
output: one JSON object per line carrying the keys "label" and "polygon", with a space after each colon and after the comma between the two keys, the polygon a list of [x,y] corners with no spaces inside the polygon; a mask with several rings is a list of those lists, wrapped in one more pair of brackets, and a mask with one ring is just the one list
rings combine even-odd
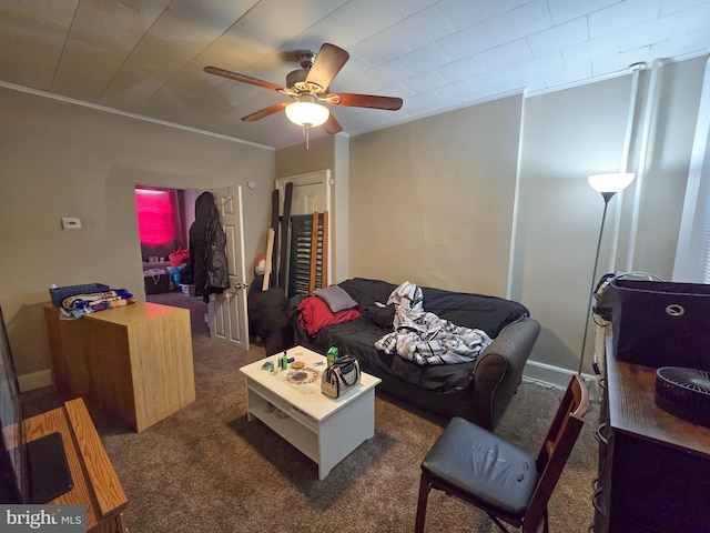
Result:
{"label": "white tiled ceiling around the ceiling fan", "polygon": [[708,53],[710,0],[0,0],[3,86],[274,148],[302,141],[283,112],[240,119],[284,97],[202,69],[281,86],[323,42],[351,54],[332,91],[404,99],[332,108],[355,135]]}

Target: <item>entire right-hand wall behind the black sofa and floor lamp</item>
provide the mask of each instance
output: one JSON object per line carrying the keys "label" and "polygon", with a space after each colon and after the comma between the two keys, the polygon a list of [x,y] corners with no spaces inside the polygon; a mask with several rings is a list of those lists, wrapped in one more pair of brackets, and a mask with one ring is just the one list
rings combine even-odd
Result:
{"label": "entire right-hand wall behind the black sofa and floor lamp", "polygon": [[[670,279],[704,60],[659,70],[633,261],[627,266],[636,185],[609,205],[598,275],[610,268],[622,202],[616,269]],[[632,171],[649,76],[640,77]],[[538,364],[528,371],[539,370],[540,379],[552,379],[548,365],[576,372],[604,210],[587,175],[619,170],[630,90],[629,74],[352,139],[349,275],[497,295],[509,290],[542,326],[530,358]]]}

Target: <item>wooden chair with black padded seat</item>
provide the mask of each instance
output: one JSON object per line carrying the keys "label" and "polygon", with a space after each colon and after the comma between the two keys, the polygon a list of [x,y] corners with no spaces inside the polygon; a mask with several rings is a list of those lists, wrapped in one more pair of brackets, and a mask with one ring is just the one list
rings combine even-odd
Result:
{"label": "wooden chair with black padded seat", "polygon": [[460,418],[454,418],[422,462],[415,533],[424,532],[432,489],[474,505],[524,533],[547,533],[547,502],[577,441],[589,392],[574,375],[537,457]]}

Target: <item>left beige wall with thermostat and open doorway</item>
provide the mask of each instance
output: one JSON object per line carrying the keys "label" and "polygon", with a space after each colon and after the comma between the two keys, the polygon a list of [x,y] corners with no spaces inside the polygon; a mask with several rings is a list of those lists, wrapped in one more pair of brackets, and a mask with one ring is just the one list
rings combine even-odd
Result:
{"label": "left beige wall with thermostat and open doorway", "polygon": [[[243,188],[247,264],[268,219],[274,151],[0,89],[0,305],[18,373],[45,370],[52,283],[144,299],[133,187]],[[62,231],[62,217],[83,229]]]}

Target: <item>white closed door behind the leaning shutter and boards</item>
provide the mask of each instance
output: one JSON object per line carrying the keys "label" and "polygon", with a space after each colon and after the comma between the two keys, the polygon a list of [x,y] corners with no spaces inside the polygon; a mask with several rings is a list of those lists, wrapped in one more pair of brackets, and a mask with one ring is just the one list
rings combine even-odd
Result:
{"label": "white closed door behind the leaning shutter and boards", "polygon": [[[288,178],[278,178],[276,180],[276,189],[278,189],[278,199],[281,202],[280,212],[283,214],[284,205],[284,192],[286,183],[293,183],[293,193],[291,199],[291,214],[312,214],[322,213],[324,211],[331,212],[331,171],[321,170],[318,172],[311,172],[307,174],[291,175]],[[327,279],[332,280],[332,264],[331,261],[331,243],[333,242],[333,222],[332,217],[328,217],[328,272]],[[288,250],[287,253],[291,253]],[[283,258],[282,258],[283,260]],[[286,259],[287,261],[287,259]]]}

